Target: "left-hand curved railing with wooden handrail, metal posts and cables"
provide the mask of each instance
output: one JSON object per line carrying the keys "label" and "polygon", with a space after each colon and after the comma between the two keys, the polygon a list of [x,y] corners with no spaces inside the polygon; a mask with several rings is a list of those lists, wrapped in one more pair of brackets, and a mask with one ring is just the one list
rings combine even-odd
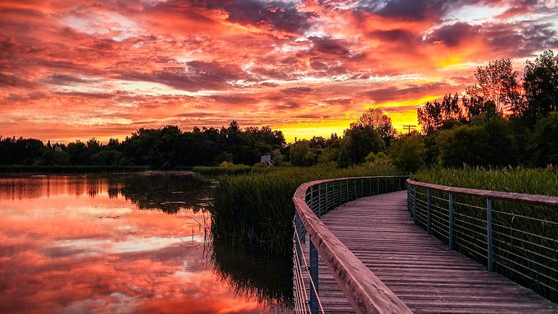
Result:
{"label": "left-hand curved railing with wooden handrail, metal posts and cables", "polygon": [[[319,299],[318,254],[357,313],[411,313],[320,220],[328,211],[359,197],[403,190],[405,179],[407,176],[340,178],[299,186],[293,196],[296,313],[324,312]],[[307,235],[309,256],[303,250]]]}

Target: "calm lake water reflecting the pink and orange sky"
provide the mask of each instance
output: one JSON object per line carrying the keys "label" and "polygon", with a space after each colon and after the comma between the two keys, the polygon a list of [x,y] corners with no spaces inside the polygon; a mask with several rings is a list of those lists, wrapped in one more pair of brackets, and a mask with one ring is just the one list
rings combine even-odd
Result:
{"label": "calm lake water reflecting the pink and orange sky", "polygon": [[211,239],[191,174],[0,177],[0,313],[266,313],[288,262]]}

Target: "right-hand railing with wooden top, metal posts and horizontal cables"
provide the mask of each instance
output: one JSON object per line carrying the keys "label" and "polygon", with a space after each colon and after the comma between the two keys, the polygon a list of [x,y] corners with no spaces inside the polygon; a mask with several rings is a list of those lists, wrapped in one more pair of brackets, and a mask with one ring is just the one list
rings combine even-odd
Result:
{"label": "right-hand railing with wooden top, metal posts and horizontal cables", "polygon": [[449,248],[558,301],[558,197],[407,180],[414,223]]}

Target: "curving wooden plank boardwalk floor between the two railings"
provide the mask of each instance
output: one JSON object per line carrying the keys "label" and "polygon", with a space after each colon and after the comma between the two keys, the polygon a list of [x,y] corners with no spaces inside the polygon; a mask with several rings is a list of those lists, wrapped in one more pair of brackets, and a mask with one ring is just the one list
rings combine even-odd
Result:
{"label": "curving wooden plank boardwalk floor between the two railings", "polygon": [[[414,225],[406,191],[363,197],[322,221],[414,313],[558,313],[557,304],[448,251]],[[319,296],[326,313],[353,312],[321,260]]]}

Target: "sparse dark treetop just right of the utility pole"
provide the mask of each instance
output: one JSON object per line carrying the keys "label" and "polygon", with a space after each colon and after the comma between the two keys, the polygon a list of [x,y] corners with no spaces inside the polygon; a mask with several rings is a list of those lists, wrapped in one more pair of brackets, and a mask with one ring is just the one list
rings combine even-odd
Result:
{"label": "sparse dark treetop just right of the utility pole", "polygon": [[422,108],[418,107],[416,109],[416,116],[423,132],[432,133],[442,128],[444,121],[462,121],[463,113],[458,102],[458,94],[455,94],[455,96],[446,94],[442,98],[442,103],[434,100],[433,103],[426,102]]}

